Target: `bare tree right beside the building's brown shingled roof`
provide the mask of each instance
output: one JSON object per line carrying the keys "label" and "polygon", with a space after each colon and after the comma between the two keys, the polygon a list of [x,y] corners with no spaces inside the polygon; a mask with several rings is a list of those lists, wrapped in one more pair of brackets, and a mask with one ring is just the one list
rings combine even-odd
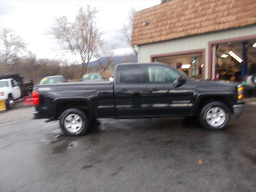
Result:
{"label": "bare tree right beside the building's brown shingled roof", "polygon": [[138,51],[136,46],[131,45],[131,40],[132,40],[132,24],[134,20],[134,13],[136,12],[134,7],[131,7],[129,12],[128,12],[128,17],[126,22],[123,24],[121,28],[121,33],[122,33],[122,40],[124,40],[127,44],[129,44],[134,51],[134,53],[137,55]]}

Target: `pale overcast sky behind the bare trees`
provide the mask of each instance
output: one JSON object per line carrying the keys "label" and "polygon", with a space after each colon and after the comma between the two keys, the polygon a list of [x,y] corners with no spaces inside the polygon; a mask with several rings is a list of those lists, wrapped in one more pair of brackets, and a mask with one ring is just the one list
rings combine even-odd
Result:
{"label": "pale overcast sky behind the bare trees", "polygon": [[0,1],[0,28],[11,28],[28,44],[27,49],[38,58],[70,57],[48,34],[54,16],[66,15],[73,19],[80,5],[90,4],[98,10],[98,28],[109,47],[116,54],[129,54],[132,50],[120,40],[120,28],[133,6],[142,10],[160,4],[160,0],[94,0],[94,1]]}

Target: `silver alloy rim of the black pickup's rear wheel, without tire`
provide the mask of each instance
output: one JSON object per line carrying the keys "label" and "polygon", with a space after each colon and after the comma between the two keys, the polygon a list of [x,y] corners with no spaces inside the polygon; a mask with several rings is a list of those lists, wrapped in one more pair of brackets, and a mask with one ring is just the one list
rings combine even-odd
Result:
{"label": "silver alloy rim of the black pickup's rear wheel, without tire", "polygon": [[67,131],[71,133],[76,133],[78,132],[83,125],[82,118],[78,114],[69,114],[66,116],[64,119],[64,126]]}

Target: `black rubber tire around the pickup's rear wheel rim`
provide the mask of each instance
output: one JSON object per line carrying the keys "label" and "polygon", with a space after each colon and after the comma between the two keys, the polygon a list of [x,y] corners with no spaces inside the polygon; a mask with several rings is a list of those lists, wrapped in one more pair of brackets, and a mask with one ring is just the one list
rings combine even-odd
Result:
{"label": "black rubber tire around the pickup's rear wheel rim", "polygon": [[[82,120],[82,127],[77,131],[77,132],[70,132],[68,130],[68,128],[65,127],[65,120],[66,118],[72,114],[76,114],[78,116],[81,117],[81,120]],[[60,128],[63,130],[63,132],[69,136],[79,136],[79,135],[82,135],[86,132],[87,128],[88,128],[88,119],[86,117],[86,114],[84,112],[82,112],[81,110],[79,109],[76,109],[76,108],[71,108],[71,109],[68,109],[66,111],[64,111],[61,116],[60,116]]]}

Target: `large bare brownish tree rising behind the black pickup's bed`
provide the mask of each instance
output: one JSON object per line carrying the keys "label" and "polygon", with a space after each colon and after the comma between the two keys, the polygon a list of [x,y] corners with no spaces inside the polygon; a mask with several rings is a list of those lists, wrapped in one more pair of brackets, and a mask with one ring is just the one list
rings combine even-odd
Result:
{"label": "large bare brownish tree rising behind the black pickup's bed", "polygon": [[66,16],[55,18],[52,34],[59,44],[72,54],[80,56],[82,70],[80,76],[86,73],[88,63],[100,42],[100,32],[96,27],[96,9],[87,5],[82,6],[74,21],[70,22]]}

